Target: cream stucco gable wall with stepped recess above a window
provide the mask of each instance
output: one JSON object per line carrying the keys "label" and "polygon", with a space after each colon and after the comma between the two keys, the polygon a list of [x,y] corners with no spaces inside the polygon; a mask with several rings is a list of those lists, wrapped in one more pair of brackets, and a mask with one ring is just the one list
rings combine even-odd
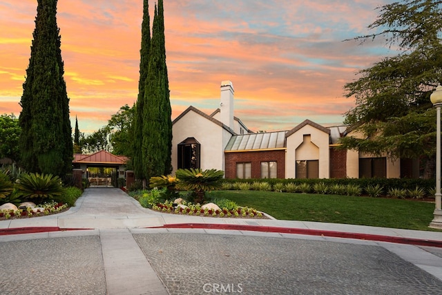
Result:
{"label": "cream stucco gable wall with stepped recess above a window", "polygon": [[[297,158],[296,149],[302,144],[304,135],[310,135],[311,144],[319,148],[319,151],[305,151],[302,147],[302,158]],[[310,154],[309,154],[310,153]],[[318,157],[307,159],[305,157]],[[287,153],[285,162],[285,177],[296,177],[296,160],[318,160],[319,178],[329,178],[330,175],[330,154],[329,154],[329,134],[316,129],[314,126],[305,125],[295,133],[287,137]]]}

